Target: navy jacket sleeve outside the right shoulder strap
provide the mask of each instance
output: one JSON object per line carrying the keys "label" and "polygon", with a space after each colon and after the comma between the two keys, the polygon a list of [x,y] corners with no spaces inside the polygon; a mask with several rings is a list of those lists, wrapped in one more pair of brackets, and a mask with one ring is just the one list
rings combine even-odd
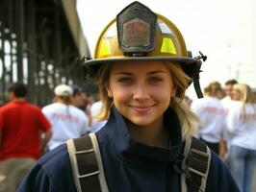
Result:
{"label": "navy jacket sleeve outside the right shoulder strap", "polygon": [[224,162],[212,152],[206,192],[239,192],[237,183]]}

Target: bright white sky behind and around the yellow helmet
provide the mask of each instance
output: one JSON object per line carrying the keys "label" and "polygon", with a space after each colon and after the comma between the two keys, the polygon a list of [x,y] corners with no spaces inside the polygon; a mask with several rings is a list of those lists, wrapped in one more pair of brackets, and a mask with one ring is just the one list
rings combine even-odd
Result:
{"label": "bright white sky behind and around the yellow helmet", "polygon": [[[132,2],[133,0],[77,0],[78,14],[92,56],[101,31],[118,12]],[[200,75],[202,87],[215,80],[224,84],[230,78],[237,78],[240,82],[256,87],[256,1],[140,2],[153,12],[163,14],[178,27],[193,56],[197,56],[198,51],[207,55],[208,60],[203,63]]]}

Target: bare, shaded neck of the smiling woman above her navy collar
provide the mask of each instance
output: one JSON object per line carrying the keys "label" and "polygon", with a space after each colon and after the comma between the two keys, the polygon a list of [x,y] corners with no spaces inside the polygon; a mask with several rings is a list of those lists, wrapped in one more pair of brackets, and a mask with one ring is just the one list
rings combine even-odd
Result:
{"label": "bare, shaded neck of the smiling woman above her navy collar", "polygon": [[158,148],[169,147],[169,133],[165,128],[163,118],[150,126],[138,126],[129,122],[128,128],[132,138],[138,142]]}

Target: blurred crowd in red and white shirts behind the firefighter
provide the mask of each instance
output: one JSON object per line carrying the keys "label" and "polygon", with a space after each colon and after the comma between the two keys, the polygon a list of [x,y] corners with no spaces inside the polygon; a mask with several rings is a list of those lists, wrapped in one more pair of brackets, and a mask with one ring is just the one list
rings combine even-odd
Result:
{"label": "blurred crowd in red and white shirts behind the firefighter", "polygon": [[[13,83],[8,94],[9,101],[0,108],[0,183],[7,174],[15,183],[13,187],[39,156],[69,138],[97,132],[106,123],[97,121],[100,96],[89,95],[79,85],[57,85],[52,102],[42,108],[27,101],[26,84]],[[239,184],[252,182],[256,166],[256,94],[250,86],[236,80],[223,85],[215,81],[204,87],[204,98],[187,95],[182,102],[200,118],[194,136],[225,161]]]}

